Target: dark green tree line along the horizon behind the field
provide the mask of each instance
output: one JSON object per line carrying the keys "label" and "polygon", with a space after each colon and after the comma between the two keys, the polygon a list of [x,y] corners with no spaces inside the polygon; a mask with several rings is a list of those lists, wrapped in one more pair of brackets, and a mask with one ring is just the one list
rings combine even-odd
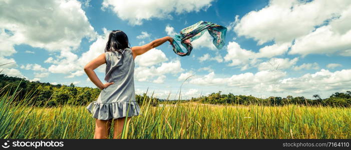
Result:
{"label": "dark green tree line along the horizon behind the field", "polygon": [[[17,89],[18,87],[18,89]],[[17,90],[16,90],[17,89]],[[16,90],[18,97],[28,97],[29,93],[33,96],[34,105],[36,106],[58,106],[63,104],[85,105],[98,98],[101,89],[92,87],[78,87],[73,83],[70,85],[43,83],[40,81],[29,81],[27,79],[7,76],[0,74],[0,96],[4,94],[13,94]],[[191,101],[198,101],[210,104],[259,104],[259,105],[331,105],[331,106],[351,106],[351,92],[335,92],[328,98],[320,98],[319,95],[313,95],[314,99],[308,99],[303,96],[286,97],[270,96],[268,98],[257,98],[252,95],[234,95],[233,93],[222,94],[221,91],[213,92],[209,95],[192,97]],[[187,102],[189,100],[166,100],[157,97],[147,96],[146,93],[135,95],[139,105],[150,104],[157,106],[159,103]],[[17,99],[21,100],[21,99]],[[145,101],[145,102],[144,102]]]}

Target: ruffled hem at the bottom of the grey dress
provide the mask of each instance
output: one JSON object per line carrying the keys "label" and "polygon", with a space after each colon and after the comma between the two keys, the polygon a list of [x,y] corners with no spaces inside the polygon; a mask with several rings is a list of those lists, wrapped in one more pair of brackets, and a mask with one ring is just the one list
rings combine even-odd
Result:
{"label": "ruffled hem at the bottom of the grey dress", "polygon": [[111,103],[99,103],[97,101],[93,101],[87,106],[87,109],[93,114],[94,118],[100,120],[125,117],[127,116],[127,111],[128,117],[141,114],[140,107],[136,101],[117,101]]}

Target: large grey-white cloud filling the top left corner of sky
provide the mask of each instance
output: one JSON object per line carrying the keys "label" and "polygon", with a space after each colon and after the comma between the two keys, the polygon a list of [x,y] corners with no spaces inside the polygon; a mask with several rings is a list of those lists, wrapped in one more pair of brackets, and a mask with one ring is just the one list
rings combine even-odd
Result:
{"label": "large grey-white cloud filling the top left corner of sky", "polygon": [[77,0],[5,0],[0,2],[0,13],[0,29],[11,32],[1,36],[8,37],[11,51],[23,43],[47,50],[76,49],[83,37],[96,35]]}

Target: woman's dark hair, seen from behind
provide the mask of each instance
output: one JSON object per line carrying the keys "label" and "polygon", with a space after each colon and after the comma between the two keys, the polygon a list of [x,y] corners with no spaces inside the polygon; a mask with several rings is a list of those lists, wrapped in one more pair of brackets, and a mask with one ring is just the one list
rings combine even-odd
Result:
{"label": "woman's dark hair, seen from behind", "polygon": [[120,51],[120,49],[130,48],[128,36],[122,30],[113,30],[109,35],[109,40],[106,43],[105,52]]}

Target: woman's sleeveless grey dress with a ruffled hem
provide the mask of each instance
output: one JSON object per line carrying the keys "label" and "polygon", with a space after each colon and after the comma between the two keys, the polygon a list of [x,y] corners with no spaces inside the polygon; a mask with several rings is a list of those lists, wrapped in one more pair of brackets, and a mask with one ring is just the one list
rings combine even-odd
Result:
{"label": "woman's sleeveless grey dress with a ruffled hem", "polygon": [[97,100],[91,102],[87,109],[94,118],[108,120],[139,115],[140,107],[135,101],[134,59],[132,49],[105,52],[107,82],[114,82],[101,90]]}

